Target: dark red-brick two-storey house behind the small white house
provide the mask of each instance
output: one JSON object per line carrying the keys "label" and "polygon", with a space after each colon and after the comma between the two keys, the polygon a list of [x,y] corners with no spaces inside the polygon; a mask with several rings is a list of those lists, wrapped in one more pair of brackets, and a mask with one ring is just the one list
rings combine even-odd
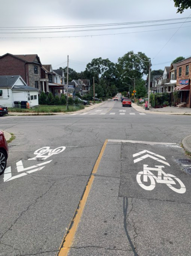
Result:
{"label": "dark red-brick two-storey house behind the small white house", "polygon": [[0,76],[20,75],[27,86],[39,89],[41,78],[41,62],[37,54],[0,56]]}

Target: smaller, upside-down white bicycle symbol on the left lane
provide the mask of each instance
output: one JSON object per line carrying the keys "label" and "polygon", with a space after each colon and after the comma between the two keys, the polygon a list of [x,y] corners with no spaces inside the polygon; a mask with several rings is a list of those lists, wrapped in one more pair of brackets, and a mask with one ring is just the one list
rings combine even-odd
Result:
{"label": "smaller, upside-down white bicycle symbol on the left lane", "polygon": [[41,158],[42,160],[45,160],[52,155],[56,155],[58,153],[63,152],[64,150],[65,150],[65,147],[57,147],[57,149],[50,149],[50,147],[41,147],[41,149],[38,149],[34,152],[34,155],[37,155],[37,156],[33,158],[29,158],[28,160],[36,160],[37,158]]}

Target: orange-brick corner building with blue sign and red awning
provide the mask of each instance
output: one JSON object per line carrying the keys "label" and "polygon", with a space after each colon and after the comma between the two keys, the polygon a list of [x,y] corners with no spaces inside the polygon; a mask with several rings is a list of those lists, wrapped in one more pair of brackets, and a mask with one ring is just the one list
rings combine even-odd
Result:
{"label": "orange-brick corner building with blue sign and red awning", "polygon": [[177,92],[181,93],[181,106],[191,108],[191,58],[176,63],[177,65]]}

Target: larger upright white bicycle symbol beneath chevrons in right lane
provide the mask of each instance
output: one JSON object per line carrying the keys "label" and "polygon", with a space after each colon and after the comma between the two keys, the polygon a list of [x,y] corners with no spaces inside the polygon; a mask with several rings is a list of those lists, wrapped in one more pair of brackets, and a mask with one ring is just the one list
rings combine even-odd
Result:
{"label": "larger upright white bicycle symbol beneath chevrons in right lane", "polygon": [[[170,187],[171,190],[173,190],[179,194],[184,194],[186,192],[186,187],[184,186],[184,184],[182,183],[182,181],[180,179],[176,178],[176,176],[174,176],[172,174],[169,174],[169,173],[167,174],[162,170],[162,168],[164,166],[155,166],[155,167],[157,167],[157,168],[150,168],[150,167],[148,167],[148,164],[144,164],[144,170],[142,172],[139,172],[136,175],[136,181],[138,181],[138,184],[142,187],[142,189],[153,190],[154,187],[156,186],[156,182],[157,182],[157,183],[166,184],[168,187]],[[157,170],[158,176],[156,177],[151,172],[151,170]],[[143,175],[143,182],[148,182],[148,179],[150,179],[150,185],[145,185],[141,181],[142,175]],[[163,177],[162,177],[162,175],[163,175]],[[172,186],[172,185],[177,184],[176,181],[180,185],[179,189]]]}

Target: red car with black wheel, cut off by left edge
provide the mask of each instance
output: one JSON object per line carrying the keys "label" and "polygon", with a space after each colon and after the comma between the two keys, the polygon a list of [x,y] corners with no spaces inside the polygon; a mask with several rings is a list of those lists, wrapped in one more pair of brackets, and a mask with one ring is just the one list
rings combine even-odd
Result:
{"label": "red car with black wheel, cut off by left edge", "polygon": [[7,140],[4,137],[4,133],[0,130],[0,175],[4,172],[7,166],[8,153]]}

